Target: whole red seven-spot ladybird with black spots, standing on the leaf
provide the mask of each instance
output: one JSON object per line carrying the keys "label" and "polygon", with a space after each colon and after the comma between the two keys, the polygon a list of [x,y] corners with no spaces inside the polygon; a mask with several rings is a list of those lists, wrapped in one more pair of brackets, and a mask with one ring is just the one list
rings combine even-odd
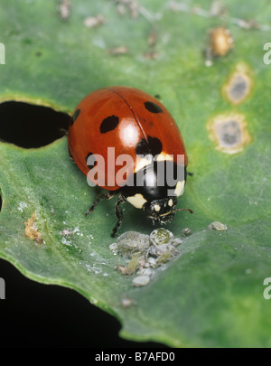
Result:
{"label": "whole red seven-spot ladybird with black spots, standing on the leaf", "polygon": [[176,211],[192,212],[175,207],[188,163],[181,133],[159,100],[145,92],[111,87],[90,93],[70,118],[68,144],[89,182],[107,190],[86,215],[101,199],[118,194],[112,237],[123,220],[123,202],[159,223],[173,221]]}

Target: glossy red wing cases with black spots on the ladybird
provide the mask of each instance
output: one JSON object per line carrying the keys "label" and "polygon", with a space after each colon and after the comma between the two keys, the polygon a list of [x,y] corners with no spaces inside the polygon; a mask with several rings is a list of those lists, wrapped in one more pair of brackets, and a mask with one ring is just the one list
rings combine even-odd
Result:
{"label": "glossy red wing cases with black spots on the ladybird", "polygon": [[[150,111],[145,107],[148,103]],[[78,116],[77,116],[78,115]],[[70,155],[79,169],[89,173],[86,163],[89,154],[101,155],[105,159],[105,185],[102,188],[115,191],[119,185],[107,186],[107,182],[114,182],[117,171],[121,166],[107,166],[107,147],[115,147],[115,155],[127,154],[136,158],[135,147],[148,136],[158,138],[163,145],[163,153],[173,155],[177,163],[177,155],[184,155],[185,166],[188,163],[182,135],[173,117],[159,100],[144,91],[127,87],[112,87],[98,89],[82,99],[73,113],[76,119],[69,128]],[[110,118],[115,128],[101,132],[103,121]],[[109,124],[109,122],[108,122]],[[114,127],[114,125],[113,125]],[[127,172],[134,173],[136,166],[127,167]],[[109,174],[110,176],[108,176]]]}

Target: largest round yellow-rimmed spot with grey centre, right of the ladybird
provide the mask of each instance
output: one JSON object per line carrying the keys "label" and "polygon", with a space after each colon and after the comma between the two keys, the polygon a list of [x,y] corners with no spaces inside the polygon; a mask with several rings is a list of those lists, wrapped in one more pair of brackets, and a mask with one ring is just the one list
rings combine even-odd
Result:
{"label": "largest round yellow-rimmed spot with grey centre, right of the ladybird", "polygon": [[224,114],[210,120],[207,125],[210,139],[215,141],[216,148],[223,153],[236,154],[251,142],[244,115]]}

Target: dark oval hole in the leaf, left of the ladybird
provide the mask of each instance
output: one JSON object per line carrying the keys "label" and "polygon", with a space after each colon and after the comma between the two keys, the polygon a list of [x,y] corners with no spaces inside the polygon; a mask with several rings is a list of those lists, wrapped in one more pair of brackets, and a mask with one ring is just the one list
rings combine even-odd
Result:
{"label": "dark oval hole in the leaf, left of the ladybird", "polygon": [[52,108],[6,101],[0,104],[0,139],[25,148],[41,147],[64,136],[70,116]]}

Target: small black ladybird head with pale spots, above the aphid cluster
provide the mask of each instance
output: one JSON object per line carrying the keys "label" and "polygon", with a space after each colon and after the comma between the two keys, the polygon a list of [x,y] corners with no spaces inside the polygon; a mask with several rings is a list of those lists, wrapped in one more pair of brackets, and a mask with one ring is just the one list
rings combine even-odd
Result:
{"label": "small black ladybird head with pale spots, above the aphid cluster", "polygon": [[145,202],[143,210],[145,211],[146,217],[151,219],[153,222],[158,221],[159,223],[173,221],[177,198],[166,197],[151,202]]}

